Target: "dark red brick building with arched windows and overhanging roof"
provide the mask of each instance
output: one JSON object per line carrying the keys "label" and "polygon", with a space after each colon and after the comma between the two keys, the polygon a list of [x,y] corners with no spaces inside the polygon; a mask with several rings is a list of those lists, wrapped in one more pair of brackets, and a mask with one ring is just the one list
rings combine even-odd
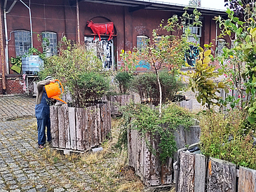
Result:
{"label": "dark red brick building with arched windows and overhanging roof", "polygon": [[[193,10],[189,8],[188,12]],[[226,16],[226,13],[208,8],[198,8],[198,11],[202,13],[203,26],[193,29],[199,36],[197,42],[201,46],[213,42],[215,50],[217,42],[213,39],[220,30],[213,18]],[[98,57],[107,55],[102,67],[116,69],[121,65],[122,49],[140,46],[144,39],[151,38],[152,29],[156,29],[162,19],[182,13],[182,5],[152,0],[1,0],[0,95],[24,93],[22,74],[25,71],[20,74],[13,71],[11,58],[24,55],[32,46],[39,48],[38,34],[50,41],[48,55],[57,54],[58,41],[67,36],[67,39],[95,48]],[[114,38],[107,41],[108,36],[102,35],[102,41],[98,41],[97,36],[93,41],[93,32],[87,27],[90,20],[113,22]],[[195,41],[192,37],[190,40]]]}

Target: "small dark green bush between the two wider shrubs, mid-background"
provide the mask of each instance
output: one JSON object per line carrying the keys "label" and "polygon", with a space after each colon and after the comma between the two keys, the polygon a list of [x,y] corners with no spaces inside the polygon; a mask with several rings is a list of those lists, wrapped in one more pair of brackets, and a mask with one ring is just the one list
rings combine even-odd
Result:
{"label": "small dark green bush between the two wider shrubs, mid-background", "polygon": [[121,94],[126,94],[128,88],[130,87],[130,81],[132,81],[133,75],[128,73],[128,71],[119,71],[114,77],[114,81],[119,85],[119,90]]}

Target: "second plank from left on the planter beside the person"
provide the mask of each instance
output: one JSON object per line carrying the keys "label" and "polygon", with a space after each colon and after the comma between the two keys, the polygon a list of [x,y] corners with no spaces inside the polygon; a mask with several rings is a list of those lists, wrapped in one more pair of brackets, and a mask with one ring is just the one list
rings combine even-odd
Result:
{"label": "second plank from left on the planter beside the person", "polygon": [[58,130],[59,130],[59,147],[66,148],[65,142],[65,108],[58,107]]}

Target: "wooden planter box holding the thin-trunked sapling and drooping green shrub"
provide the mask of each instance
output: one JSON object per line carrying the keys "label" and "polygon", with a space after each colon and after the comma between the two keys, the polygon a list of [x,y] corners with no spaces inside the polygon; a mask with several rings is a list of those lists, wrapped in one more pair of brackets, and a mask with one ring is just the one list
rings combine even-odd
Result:
{"label": "wooden planter box holding the thin-trunked sapling and drooping green shrub", "polygon": [[[182,126],[177,128],[174,133],[177,149],[183,148],[187,144],[199,141],[200,128],[193,126],[189,130]],[[154,149],[158,149],[160,142],[159,136],[147,135],[147,140]],[[168,158],[166,163],[161,164],[159,156],[154,156],[146,145],[145,139],[141,137],[137,130],[128,130],[128,158],[129,165],[135,168],[135,173],[140,177],[146,186],[165,186],[173,184],[173,158]]]}

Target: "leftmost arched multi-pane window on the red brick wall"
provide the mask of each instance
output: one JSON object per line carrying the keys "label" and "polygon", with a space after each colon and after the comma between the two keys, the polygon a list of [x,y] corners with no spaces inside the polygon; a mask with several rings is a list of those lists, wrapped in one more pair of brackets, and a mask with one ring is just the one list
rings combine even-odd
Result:
{"label": "leftmost arched multi-pane window on the red brick wall", "polygon": [[15,52],[16,57],[28,53],[31,48],[31,34],[30,32],[19,30],[14,33],[15,36]]}

